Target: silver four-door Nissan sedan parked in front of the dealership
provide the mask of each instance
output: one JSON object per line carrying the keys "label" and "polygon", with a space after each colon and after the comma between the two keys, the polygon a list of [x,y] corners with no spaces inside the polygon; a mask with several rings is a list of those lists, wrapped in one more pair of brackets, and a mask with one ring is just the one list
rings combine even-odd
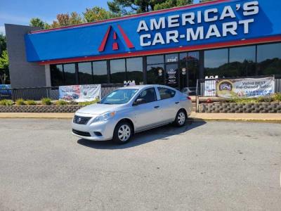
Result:
{"label": "silver four-door Nissan sedan parked in front of the dealership", "polygon": [[182,127],[191,110],[190,97],[171,87],[124,87],[77,110],[72,134],[92,141],[127,143],[133,134],[164,124],[174,122]]}

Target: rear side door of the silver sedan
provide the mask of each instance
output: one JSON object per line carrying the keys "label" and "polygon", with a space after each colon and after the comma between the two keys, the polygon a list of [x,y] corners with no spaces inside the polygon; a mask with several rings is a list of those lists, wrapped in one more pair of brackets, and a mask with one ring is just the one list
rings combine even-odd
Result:
{"label": "rear side door of the silver sedan", "polygon": [[174,121],[178,108],[176,101],[176,91],[166,87],[157,87],[159,93],[159,112],[162,113],[163,123]]}

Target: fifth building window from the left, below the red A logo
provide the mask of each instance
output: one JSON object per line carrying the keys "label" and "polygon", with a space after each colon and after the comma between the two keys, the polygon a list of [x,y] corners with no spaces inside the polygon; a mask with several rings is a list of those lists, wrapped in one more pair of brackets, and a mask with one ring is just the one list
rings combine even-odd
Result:
{"label": "fifth building window from the left, below the red A logo", "polygon": [[126,81],[125,59],[110,60],[110,81],[115,83],[124,83]]}

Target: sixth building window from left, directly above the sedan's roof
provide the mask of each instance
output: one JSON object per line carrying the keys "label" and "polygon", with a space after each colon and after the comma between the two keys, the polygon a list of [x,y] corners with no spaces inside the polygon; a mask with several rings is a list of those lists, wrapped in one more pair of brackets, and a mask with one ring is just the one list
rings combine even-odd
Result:
{"label": "sixth building window from left, directly above the sedan's roof", "polygon": [[136,84],[143,84],[143,58],[127,58],[126,70],[128,81],[135,81]]}

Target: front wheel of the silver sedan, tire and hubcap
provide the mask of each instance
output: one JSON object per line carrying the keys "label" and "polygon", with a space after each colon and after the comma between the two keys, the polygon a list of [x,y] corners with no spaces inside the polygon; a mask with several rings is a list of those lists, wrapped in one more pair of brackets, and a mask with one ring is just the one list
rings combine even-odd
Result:
{"label": "front wheel of the silver sedan, tire and hubcap", "polygon": [[118,144],[128,143],[131,136],[133,136],[133,127],[129,122],[122,121],[116,125],[112,141]]}

